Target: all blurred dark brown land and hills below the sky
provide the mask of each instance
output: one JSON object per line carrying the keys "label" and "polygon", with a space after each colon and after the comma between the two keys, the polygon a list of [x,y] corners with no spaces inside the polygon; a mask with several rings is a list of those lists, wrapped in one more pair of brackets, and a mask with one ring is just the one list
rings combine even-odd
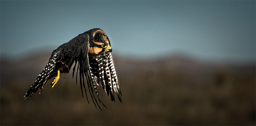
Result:
{"label": "all blurred dark brown land and hills below the sky", "polygon": [[[50,53],[1,57],[0,125],[256,125],[255,62],[210,63],[175,55],[136,60],[114,55],[122,103],[96,109],[82,98],[71,73],[49,80],[41,94],[23,95]],[[99,87],[101,88],[101,87]]]}

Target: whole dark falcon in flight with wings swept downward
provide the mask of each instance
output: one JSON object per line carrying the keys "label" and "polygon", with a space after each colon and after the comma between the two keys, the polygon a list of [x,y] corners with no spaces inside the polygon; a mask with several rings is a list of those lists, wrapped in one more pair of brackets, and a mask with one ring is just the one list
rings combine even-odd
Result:
{"label": "whole dark falcon in flight with wings swept downward", "polygon": [[[116,92],[117,98],[121,102],[122,93],[111,52],[112,48],[110,46],[109,38],[101,29],[94,28],[79,34],[69,42],[62,44],[57,49],[53,50],[49,62],[38,75],[34,84],[30,86],[29,90],[24,95],[24,98],[26,99],[29,95],[31,97],[38,89],[40,89],[41,92],[45,83],[52,77],[54,77],[54,80],[50,85],[53,88],[60,79],[60,73],[69,73],[69,70],[75,63],[72,76],[74,78],[76,69],[77,83],[79,71],[82,97],[84,88],[87,98],[86,84],[84,83],[86,80],[94,105],[95,102],[98,105],[94,92],[98,97],[99,103],[102,103],[96,85],[101,85],[106,94],[110,94],[111,101],[114,102],[114,92]],[[103,103],[102,105],[106,108]],[[97,106],[95,105],[95,107]]]}

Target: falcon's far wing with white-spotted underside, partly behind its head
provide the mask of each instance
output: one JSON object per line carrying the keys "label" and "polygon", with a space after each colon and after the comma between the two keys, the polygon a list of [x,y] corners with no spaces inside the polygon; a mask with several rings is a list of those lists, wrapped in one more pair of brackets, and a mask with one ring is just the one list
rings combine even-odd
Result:
{"label": "falcon's far wing with white-spotted underside, partly behind its head", "polygon": [[[93,37],[95,40],[105,41],[110,45],[109,38],[105,32],[97,28],[93,29],[93,31]],[[122,93],[111,52],[105,52],[99,56],[90,57],[89,62],[93,82],[97,85],[101,84],[106,94],[110,94],[111,101],[115,101],[114,92],[116,92],[117,97],[121,102]]]}

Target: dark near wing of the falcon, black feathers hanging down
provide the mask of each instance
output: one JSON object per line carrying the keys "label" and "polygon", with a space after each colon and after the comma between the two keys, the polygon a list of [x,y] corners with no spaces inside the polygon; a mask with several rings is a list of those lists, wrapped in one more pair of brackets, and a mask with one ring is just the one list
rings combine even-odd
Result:
{"label": "dark near wing of the falcon, black feathers hanging down", "polygon": [[[72,76],[74,78],[74,73],[75,73],[75,69],[77,66],[76,82],[77,82],[78,70],[79,70],[79,81],[80,81],[80,88],[82,91],[82,97],[83,97],[83,89],[84,89],[86,99],[88,101],[86,88],[85,88],[86,85],[84,83],[84,81],[86,80],[87,86],[89,89],[89,93],[91,95],[91,99],[93,100],[94,105],[96,102],[97,106],[99,107],[97,99],[95,98],[94,93],[93,93],[94,91],[97,94],[99,102],[102,103],[102,101],[98,95],[97,87],[93,83],[93,79],[91,76],[89,59],[88,59],[88,46],[89,46],[89,34],[87,32],[79,34],[77,37],[75,37],[72,40],[70,40],[69,42],[67,42],[67,44],[65,45],[65,47],[63,48],[63,50],[61,52],[60,62],[62,64],[65,64],[68,67],[68,70],[70,70],[73,63],[75,63]],[[89,101],[88,101],[88,103],[89,103]],[[102,103],[102,105],[105,107],[105,105],[103,103]]]}

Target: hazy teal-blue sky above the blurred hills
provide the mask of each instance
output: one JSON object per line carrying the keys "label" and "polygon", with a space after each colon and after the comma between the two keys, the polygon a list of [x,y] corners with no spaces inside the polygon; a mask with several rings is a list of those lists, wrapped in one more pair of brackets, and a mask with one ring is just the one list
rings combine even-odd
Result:
{"label": "hazy teal-blue sky above the blurred hills", "polygon": [[255,61],[255,0],[0,1],[2,56],[52,51],[101,28],[113,53]]}

